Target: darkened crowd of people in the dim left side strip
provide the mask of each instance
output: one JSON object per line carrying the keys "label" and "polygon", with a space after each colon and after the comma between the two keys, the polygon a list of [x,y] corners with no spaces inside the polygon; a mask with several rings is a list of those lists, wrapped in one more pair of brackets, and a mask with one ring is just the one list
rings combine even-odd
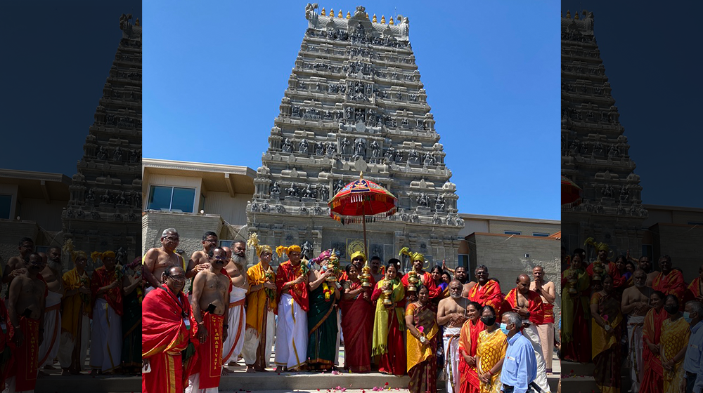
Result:
{"label": "darkened crowd of people in the dim left side strip", "polygon": [[[64,272],[63,255],[72,269]],[[91,374],[133,373],[141,367],[141,261],[116,262],[113,251],[89,255],[72,244],[34,249],[22,238],[2,271],[0,388],[33,391],[43,369],[79,375],[90,353]]]}

